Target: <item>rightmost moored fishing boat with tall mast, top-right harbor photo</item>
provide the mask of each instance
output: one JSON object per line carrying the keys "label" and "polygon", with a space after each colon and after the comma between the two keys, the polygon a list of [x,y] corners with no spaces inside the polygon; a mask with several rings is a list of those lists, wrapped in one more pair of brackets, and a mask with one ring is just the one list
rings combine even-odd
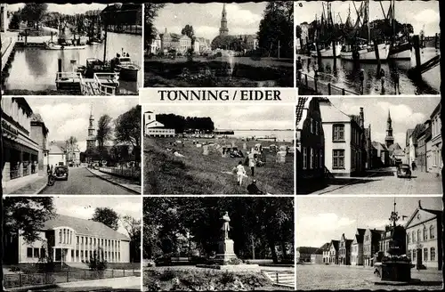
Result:
{"label": "rightmost moored fishing boat with tall mast, top-right harbor photo", "polygon": [[[382,5],[382,3],[380,3]],[[382,8],[383,9],[383,8]],[[388,13],[385,15],[387,20],[392,23],[392,43],[390,47],[390,52],[388,55],[389,59],[395,60],[411,60],[412,45],[409,43],[409,33],[405,33],[404,37],[398,37],[395,33],[395,1],[392,0]]]}

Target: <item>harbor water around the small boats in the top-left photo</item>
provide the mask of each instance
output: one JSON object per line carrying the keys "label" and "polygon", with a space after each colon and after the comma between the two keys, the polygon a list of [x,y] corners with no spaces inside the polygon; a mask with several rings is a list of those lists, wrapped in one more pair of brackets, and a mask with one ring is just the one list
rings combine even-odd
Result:
{"label": "harbor water around the small boats in the top-left photo", "polygon": [[[51,37],[45,38],[46,40],[51,39]],[[82,39],[82,41],[85,41],[85,39]],[[31,37],[29,37],[28,42],[33,42]],[[141,36],[109,32],[107,37],[107,60],[116,57],[116,54],[122,53],[122,50],[129,53],[132,61],[142,66]],[[104,44],[87,45],[83,50],[17,48],[15,58],[12,61],[10,76],[5,82],[6,90],[56,90],[55,77],[58,69],[58,59],[62,60],[63,71],[72,71],[72,60],[76,60],[79,65],[85,65],[87,58],[103,60],[103,52]],[[119,81],[119,92],[124,94],[137,93],[138,88],[142,85],[142,75],[141,69],[137,82]]]}

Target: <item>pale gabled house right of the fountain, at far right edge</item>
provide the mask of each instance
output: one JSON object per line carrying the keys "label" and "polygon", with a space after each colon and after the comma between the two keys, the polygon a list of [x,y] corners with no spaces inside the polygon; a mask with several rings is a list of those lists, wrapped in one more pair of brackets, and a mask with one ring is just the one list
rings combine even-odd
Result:
{"label": "pale gabled house right of the fountain, at far right edge", "polygon": [[442,211],[418,207],[405,224],[407,256],[413,264],[426,269],[442,269]]}

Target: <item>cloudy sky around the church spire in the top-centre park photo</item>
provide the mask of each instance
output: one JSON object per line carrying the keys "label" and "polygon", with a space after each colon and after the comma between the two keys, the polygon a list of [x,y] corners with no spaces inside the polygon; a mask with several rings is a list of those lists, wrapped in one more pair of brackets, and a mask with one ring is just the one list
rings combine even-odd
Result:
{"label": "cloudy sky around the church spire in the top-centre park photo", "polygon": [[[227,27],[229,35],[255,35],[266,3],[226,4]],[[181,34],[187,24],[193,26],[196,37],[205,37],[212,41],[219,35],[221,26],[222,3],[209,4],[166,4],[158,12],[154,21],[159,33]]]}

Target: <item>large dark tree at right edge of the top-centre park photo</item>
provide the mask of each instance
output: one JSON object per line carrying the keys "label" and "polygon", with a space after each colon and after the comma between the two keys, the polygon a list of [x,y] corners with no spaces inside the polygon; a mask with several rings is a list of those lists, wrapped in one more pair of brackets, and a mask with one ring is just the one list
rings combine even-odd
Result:
{"label": "large dark tree at right edge of the top-centre park photo", "polygon": [[294,4],[292,1],[275,1],[266,5],[258,45],[268,56],[291,58],[294,55]]}

